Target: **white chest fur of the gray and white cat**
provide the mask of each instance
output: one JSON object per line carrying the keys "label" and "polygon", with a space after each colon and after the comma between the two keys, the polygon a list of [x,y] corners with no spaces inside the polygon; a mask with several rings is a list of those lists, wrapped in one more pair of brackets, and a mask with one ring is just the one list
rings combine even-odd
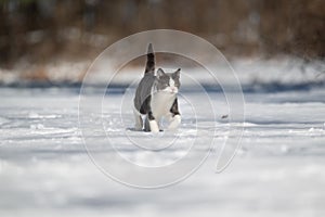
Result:
{"label": "white chest fur of the gray and white cat", "polygon": [[156,118],[168,115],[172,103],[176,99],[176,93],[159,91],[152,95],[152,111]]}

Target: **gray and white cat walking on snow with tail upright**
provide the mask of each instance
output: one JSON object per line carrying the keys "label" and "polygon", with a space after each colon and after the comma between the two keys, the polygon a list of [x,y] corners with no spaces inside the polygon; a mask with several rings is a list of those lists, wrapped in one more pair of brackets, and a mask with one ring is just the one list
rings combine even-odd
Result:
{"label": "gray and white cat walking on snow with tail upright", "polygon": [[[162,130],[162,117],[169,122],[168,129],[178,128],[181,123],[177,98],[181,86],[180,72],[181,68],[174,73],[165,73],[158,68],[155,75],[155,54],[152,43],[148,44],[144,76],[134,97],[135,130],[159,132]],[[145,115],[144,126],[143,115]]]}

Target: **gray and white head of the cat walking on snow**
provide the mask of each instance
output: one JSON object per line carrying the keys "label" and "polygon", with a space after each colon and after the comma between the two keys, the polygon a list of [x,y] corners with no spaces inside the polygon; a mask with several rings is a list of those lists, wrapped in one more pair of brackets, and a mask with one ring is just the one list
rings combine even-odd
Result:
{"label": "gray and white head of the cat walking on snow", "polygon": [[161,68],[157,71],[157,90],[170,93],[178,93],[181,87],[181,68],[173,73],[165,73]]}

